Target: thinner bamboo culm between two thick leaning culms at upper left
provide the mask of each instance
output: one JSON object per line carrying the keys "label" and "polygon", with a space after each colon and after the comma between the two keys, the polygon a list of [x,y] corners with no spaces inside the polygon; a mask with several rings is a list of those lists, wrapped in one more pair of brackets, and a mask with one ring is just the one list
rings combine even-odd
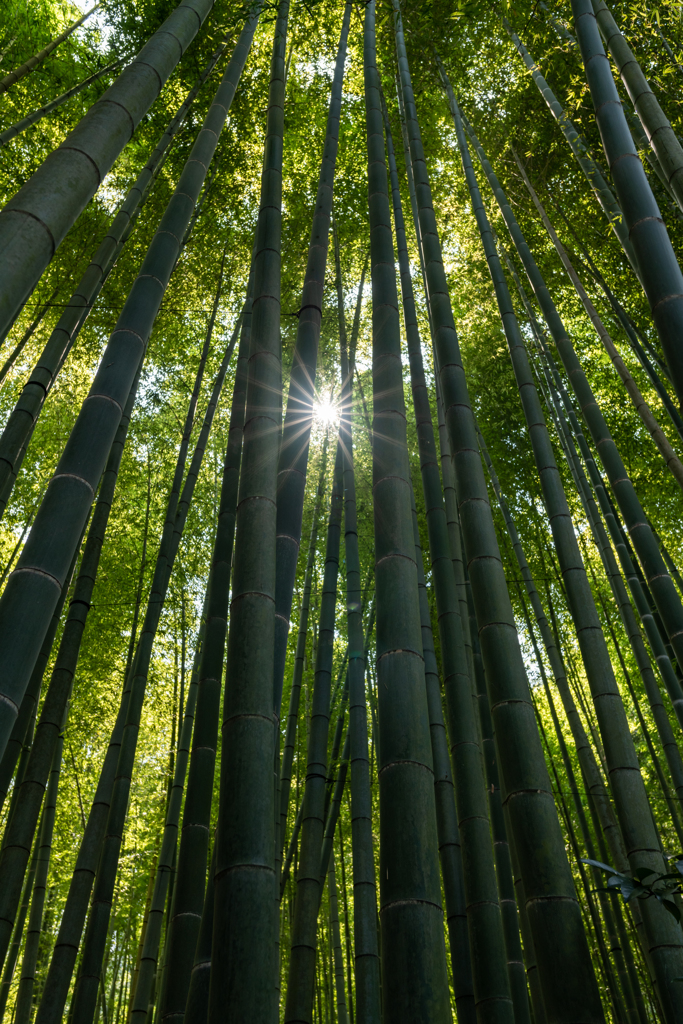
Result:
{"label": "thinner bamboo culm between two thick leaning culms at upper left", "polygon": [[0,435],[0,516],[3,515],[7,507],[7,501],[14,486],[36,421],[50,388],[76,343],[79,332],[85,324],[109,272],[132,233],[135,221],[144,206],[159,171],[164,165],[173,138],[182,126],[200,89],[211,75],[226,46],[227,43],[221,43],[213,53],[197,84],[187,93],[178,112],[162,133],[158,144],[135,182],[128,189],[121,209],[74,289],[29,376],[29,380],[24,385],[22,393],[9,414]]}

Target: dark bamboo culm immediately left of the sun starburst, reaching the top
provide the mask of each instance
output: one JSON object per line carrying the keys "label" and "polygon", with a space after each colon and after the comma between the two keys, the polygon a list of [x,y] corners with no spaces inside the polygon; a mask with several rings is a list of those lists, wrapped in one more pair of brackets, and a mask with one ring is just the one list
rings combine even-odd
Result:
{"label": "dark bamboo culm immediately left of the sun starburst, reaching the top", "polygon": [[[344,62],[351,18],[350,2],[344,7],[337,47],[335,74],[321,163],[317,195],[308,244],[308,262],[298,312],[297,337],[292,357],[287,413],[278,465],[278,582],[275,590],[275,663],[273,701],[280,719],[287,637],[292,611],[292,595],[301,544],[301,522],[306,487],[308,444],[313,420],[317,346],[323,319],[323,293],[328,258],[332,195],[339,145]],[[279,850],[281,843],[278,844]]]}

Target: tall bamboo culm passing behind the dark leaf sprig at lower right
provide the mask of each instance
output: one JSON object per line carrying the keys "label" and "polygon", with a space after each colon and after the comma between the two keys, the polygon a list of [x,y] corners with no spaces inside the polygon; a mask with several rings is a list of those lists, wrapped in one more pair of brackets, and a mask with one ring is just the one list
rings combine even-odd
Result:
{"label": "tall bamboo culm passing behind the dark leaf sprig at lower right", "polygon": [[[458,143],[473,211],[496,288],[501,319],[541,478],[544,502],[560,561],[569,610],[575,626],[582,658],[598,717],[600,734],[605,746],[611,791],[626,841],[627,856],[632,871],[638,868],[647,868],[664,873],[666,865],[661,857],[645,784],[640,774],[638,757],[573,531],[541,401],[496,251],[488,218],[482,206],[458,104],[443,72],[442,75],[456,122]],[[654,902],[643,902],[642,915],[655,978],[660,991],[664,991],[667,988],[667,979],[671,976],[671,972],[683,971],[683,943],[681,943],[683,936],[680,935],[679,926],[673,921],[666,908],[660,904],[655,907]],[[678,948],[676,948],[677,946]],[[666,952],[663,952],[663,948],[666,948]],[[668,1009],[670,1013],[673,1013],[677,1002],[675,993],[663,996],[665,1005],[667,999],[671,1000]],[[681,1007],[683,1007],[683,996]],[[675,1015],[672,1019],[675,1019]]]}

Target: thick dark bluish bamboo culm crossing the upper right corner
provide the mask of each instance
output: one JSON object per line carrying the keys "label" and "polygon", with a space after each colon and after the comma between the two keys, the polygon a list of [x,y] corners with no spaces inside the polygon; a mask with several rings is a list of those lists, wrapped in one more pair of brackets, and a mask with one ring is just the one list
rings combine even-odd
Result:
{"label": "thick dark bluish bamboo culm crossing the upper right corner", "polygon": [[591,0],[572,0],[571,10],[607,164],[672,383],[683,401],[683,273],[633,144]]}

